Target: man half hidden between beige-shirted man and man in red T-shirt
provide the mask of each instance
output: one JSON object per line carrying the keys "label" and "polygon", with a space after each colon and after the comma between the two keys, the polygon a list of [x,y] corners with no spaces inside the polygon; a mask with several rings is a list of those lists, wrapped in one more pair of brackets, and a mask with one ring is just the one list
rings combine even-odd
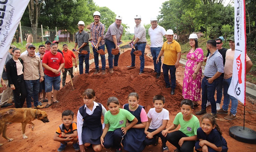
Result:
{"label": "man half hidden between beige-shirted man and man in red T-shirt", "polygon": [[[45,55],[45,46],[44,45],[40,45],[38,47],[38,53],[36,53],[36,55],[41,59],[41,64],[42,64],[43,56]],[[45,68],[43,68],[43,71],[45,71]],[[46,99],[46,92],[45,92],[45,77],[43,77],[43,79],[44,80],[40,83],[38,99],[40,99],[40,94],[42,93],[43,102],[48,102],[48,99]]]}

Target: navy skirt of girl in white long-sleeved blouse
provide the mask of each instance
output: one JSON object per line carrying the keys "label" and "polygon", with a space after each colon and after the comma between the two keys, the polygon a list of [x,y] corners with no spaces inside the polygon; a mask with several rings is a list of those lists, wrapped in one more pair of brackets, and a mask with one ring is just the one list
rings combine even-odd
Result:
{"label": "navy skirt of girl in white long-sleeved blouse", "polygon": [[101,144],[102,125],[98,127],[83,126],[82,129],[82,140],[83,144],[90,143],[94,145]]}

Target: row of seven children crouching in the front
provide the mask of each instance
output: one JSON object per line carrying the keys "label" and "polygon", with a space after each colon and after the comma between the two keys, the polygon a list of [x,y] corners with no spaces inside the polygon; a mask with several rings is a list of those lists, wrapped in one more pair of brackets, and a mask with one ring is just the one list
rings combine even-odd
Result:
{"label": "row of seven children crouching in the front", "polygon": [[[64,151],[68,142],[73,142],[75,151],[85,152],[92,146],[95,152],[102,148],[123,149],[129,152],[141,152],[147,145],[158,145],[161,138],[162,151],[168,152],[166,142],[169,141],[176,152],[221,151],[227,152],[227,142],[222,137],[214,116],[206,114],[199,119],[192,115],[193,101],[184,99],[180,112],[175,116],[173,124],[167,127],[169,111],[164,109],[165,98],[155,95],[153,106],[148,113],[144,106],[139,105],[137,93],[128,95],[128,104],[120,108],[118,98],[109,97],[106,105],[109,111],[95,102],[95,91],[87,89],[82,94],[84,105],[77,112],[77,123],[74,112],[67,110],[62,113],[62,121],[54,140],[60,142],[58,152]],[[104,116],[104,123],[101,123]],[[175,130],[180,124],[180,129]],[[166,129],[167,128],[167,129]],[[169,132],[172,131],[172,132]]]}

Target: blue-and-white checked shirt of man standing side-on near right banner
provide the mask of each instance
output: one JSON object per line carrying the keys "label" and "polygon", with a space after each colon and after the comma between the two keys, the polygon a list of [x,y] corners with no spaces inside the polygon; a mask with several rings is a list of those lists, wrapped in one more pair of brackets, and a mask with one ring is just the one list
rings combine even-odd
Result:
{"label": "blue-and-white checked shirt of man standing side-on near right banner", "polygon": [[209,54],[204,68],[204,76],[213,77],[216,72],[224,73],[223,58],[218,50],[213,55]]}

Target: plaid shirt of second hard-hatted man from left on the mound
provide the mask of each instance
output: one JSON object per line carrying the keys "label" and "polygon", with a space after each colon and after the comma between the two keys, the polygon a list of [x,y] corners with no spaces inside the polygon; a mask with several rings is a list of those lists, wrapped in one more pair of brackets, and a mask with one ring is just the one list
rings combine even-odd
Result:
{"label": "plaid shirt of second hard-hatted man from left on the mound", "polygon": [[105,27],[101,22],[99,22],[96,25],[94,24],[94,22],[91,23],[91,34],[92,34],[92,40],[94,41],[94,43],[97,44],[99,37],[101,37],[101,41],[99,42],[98,46],[102,46],[105,44],[104,31],[105,31]]}

